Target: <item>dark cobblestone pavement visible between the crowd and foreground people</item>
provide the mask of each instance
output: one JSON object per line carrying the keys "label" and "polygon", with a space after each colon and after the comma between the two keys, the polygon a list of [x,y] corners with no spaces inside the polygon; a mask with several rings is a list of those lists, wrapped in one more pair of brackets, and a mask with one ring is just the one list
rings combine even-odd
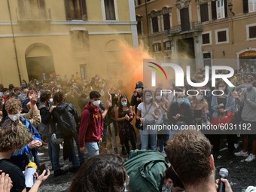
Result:
{"label": "dark cobblestone pavement visible between the crowd and foreground people", "polygon": [[[245,189],[250,186],[256,186],[256,161],[251,163],[246,163],[245,157],[234,157],[233,160],[227,160],[227,146],[226,139],[222,138],[221,141],[221,151],[218,160],[215,160],[216,178],[219,178],[218,172],[221,168],[226,168],[229,171],[228,180],[233,189],[233,192],[244,192]],[[239,148],[236,151],[241,150],[242,142],[239,142]],[[120,152],[120,146],[118,149]],[[51,169],[51,163],[47,154],[47,149],[41,148],[40,152],[44,153],[44,156],[39,157],[40,163],[45,163],[47,169]],[[112,149],[108,150],[109,153],[113,152]],[[62,156],[62,150],[60,151]],[[86,158],[89,155],[86,154]],[[62,157],[59,157],[59,163],[64,162]],[[71,162],[65,161],[65,166],[62,169],[68,169],[72,166]],[[44,181],[39,187],[40,192],[64,192],[69,191],[69,186],[72,183],[72,178],[74,178],[76,173],[68,172],[66,175],[59,177],[53,177],[53,171],[50,171],[50,176]]]}

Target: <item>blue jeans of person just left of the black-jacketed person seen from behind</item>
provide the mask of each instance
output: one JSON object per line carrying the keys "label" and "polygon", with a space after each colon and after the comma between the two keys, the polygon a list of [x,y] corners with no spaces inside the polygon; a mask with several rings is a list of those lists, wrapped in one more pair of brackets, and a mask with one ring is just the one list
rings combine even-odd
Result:
{"label": "blue jeans of person just left of the black-jacketed person seen from behind", "polygon": [[47,141],[48,141],[48,155],[50,157],[50,162],[53,165],[53,170],[56,171],[60,169],[59,145],[56,145],[51,141],[51,136],[47,136]]}

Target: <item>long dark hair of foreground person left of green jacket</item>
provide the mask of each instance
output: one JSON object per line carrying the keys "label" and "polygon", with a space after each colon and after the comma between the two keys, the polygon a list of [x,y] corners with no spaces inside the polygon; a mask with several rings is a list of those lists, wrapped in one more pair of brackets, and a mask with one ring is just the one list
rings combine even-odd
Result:
{"label": "long dark hair of foreground person left of green jacket", "polygon": [[120,192],[127,180],[123,159],[115,154],[90,157],[72,181],[69,192]]}

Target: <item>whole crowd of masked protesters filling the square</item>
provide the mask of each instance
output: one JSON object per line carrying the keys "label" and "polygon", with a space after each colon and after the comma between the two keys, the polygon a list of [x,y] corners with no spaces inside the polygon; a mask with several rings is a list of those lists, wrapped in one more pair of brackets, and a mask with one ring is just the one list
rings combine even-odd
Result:
{"label": "whole crowd of masked protesters filling the square", "polygon": [[[222,70],[217,73],[229,72]],[[210,71],[210,79],[211,74]],[[204,78],[205,71],[201,68],[191,81],[200,83]],[[149,180],[152,178],[148,176],[148,184],[143,187],[141,172],[146,175],[159,175],[154,178],[155,181],[152,180],[157,183],[154,184],[156,191],[161,191],[163,185],[167,191],[200,191],[197,187],[202,186],[207,189],[203,191],[215,191],[214,160],[218,160],[220,135],[204,136],[202,133],[193,132],[179,134],[177,130],[160,135],[157,130],[145,130],[145,124],[154,126],[164,123],[178,127],[209,124],[212,119],[233,112],[236,115],[230,123],[250,123],[251,129],[255,130],[255,78],[256,73],[242,68],[235,70],[235,74],[229,78],[235,87],[229,87],[222,80],[218,80],[216,87],[212,87],[210,80],[206,86],[196,88],[187,84],[184,78],[184,87],[175,87],[175,82],[169,85],[168,89],[175,90],[176,94],[162,94],[161,90],[166,90],[166,87],[146,89],[142,81],[139,81],[131,99],[127,96],[128,90],[123,87],[120,75],[111,75],[104,80],[99,75],[83,79],[76,73],[70,79],[66,76],[62,79],[59,75],[50,74],[48,79],[44,78],[42,81],[35,79],[27,84],[23,80],[21,87],[10,84],[5,88],[1,84],[0,169],[10,176],[11,191],[26,191],[21,171],[26,169],[29,162],[35,162],[39,166],[38,156],[41,154],[38,153],[38,148],[47,145],[54,176],[64,175],[68,171],[78,172],[70,191],[142,191],[145,186],[151,186]],[[198,90],[198,94],[187,95],[187,90]],[[209,91],[204,95],[200,90]],[[222,90],[224,94],[214,96],[212,90]],[[136,129],[140,136],[136,134]],[[124,164],[123,159],[116,155],[117,136],[122,154],[128,154],[129,157]],[[242,151],[235,153],[238,136],[227,135],[227,159],[242,156],[246,157],[245,162],[251,162],[256,159],[256,135],[241,137]],[[140,146],[136,145],[139,139]],[[252,141],[251,154],[248,154],[249,139]],[[114,154],[105,153],[108,140]],[[133,151],[130,151],[130,144]],[[157,152],[157,145],[160,153]],[[69,170],[61,169],[63,165],[59,164],[61,148],[63,159],[72,161]],[[152,151],[148,151],[148,148]],[[195,151],[195,148],[200,151]],[[85,160],[85,151],[90,155],[89,160]],[[168,157],[169,163],[166,163],[165,157]],[[194,159],[189,159],[191,157]],[[149,164],[157,162],[151,164],[156,166],[155,171],[153,166],[146,169],[145,161]],[[181,167],[181,162],[190,163],[187,163],[187,167]],[[136,166],[144,166],[145,170],[134,172]],[[17,170],[19,174],[15,175],[11,169]],[[41,182],[49,176],[49,170],[47,172],[46,176],[45,172],[37,175],[35,187],[31,191],[38,190]],[[225,191],[232,191],[228,181],[223,182],[226,184]]]}

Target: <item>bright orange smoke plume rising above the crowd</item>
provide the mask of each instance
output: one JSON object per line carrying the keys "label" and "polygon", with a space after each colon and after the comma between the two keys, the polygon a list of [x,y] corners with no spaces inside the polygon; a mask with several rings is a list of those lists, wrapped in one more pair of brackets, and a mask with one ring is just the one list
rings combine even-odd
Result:
{"label": "bright orange smoke plume rising above the crowd", "polygon": [[152,59],[152,56],[143,46],[134,48],[125,41],[120,41],[119,46],[121,50],[120,63],[123,63],[124,66],[122,78],[128,80],[123,81],[123,86],[126,87],[126,92],[132,96],[136,83],[143,82],[143,59]]}

